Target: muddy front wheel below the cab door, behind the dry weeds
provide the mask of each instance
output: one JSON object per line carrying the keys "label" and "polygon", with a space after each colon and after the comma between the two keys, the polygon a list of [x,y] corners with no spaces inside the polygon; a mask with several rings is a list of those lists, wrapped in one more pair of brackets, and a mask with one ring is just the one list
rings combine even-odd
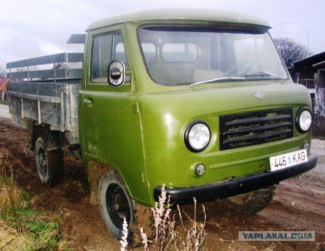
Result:
{"label": "muddy front wheel below the cab door, behind the dry weeds", "polygon": [[114,238],[121,240],[124,218],[127,222],[128,246],[141,245],[141,227],[144,228],[148,238],[152,237],[154,222],[151,208],[134,202],[115,170],[109,170],[101,178],[99,197],[102,216]]}

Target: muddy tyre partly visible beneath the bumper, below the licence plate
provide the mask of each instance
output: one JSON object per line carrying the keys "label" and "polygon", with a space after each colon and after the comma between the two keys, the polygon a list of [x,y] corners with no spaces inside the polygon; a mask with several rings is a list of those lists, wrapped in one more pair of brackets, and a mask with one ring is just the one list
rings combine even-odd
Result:
{"label": "muddy tyre partly visible beneath the bumper, below the licence plate", "polygon": [[251,214],[263,210],[271,203],[274,190],[275,186],[270,186],[228,197],[223,199],[223,201],[238,211]]}

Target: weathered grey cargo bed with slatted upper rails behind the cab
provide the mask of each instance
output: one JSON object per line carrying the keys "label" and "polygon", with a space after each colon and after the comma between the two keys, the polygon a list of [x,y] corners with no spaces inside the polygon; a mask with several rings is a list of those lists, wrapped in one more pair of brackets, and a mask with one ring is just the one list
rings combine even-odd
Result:
{"label": "weathered grey cargo bed with slatted upper rails behind the cab", "polygon": [[[60,57],[59,57],[60,56]],[[58,60],[59,58],[59,60]],[[66,53],[8,63],[7,67],[27,66],[27,71],[10,72],[22,81],[8,83],[9,111],[16,124],[26,127],[26,121],[47,124],[51,130],[69,131],[69,144],[79,144],[78,97],[81,68],[56,69],[57,63],[68,60]],[[82,57],[79,57],[79,60]],[[29,66],[53,63],[50,70],[29,71]],[[47,75],[47,78],[43,79]],[[68,78],[58,78],[61,76]],[[79,78],[69,78],[80,76]],[[31,80],[30,76],[34,79]],[[26,80],[27,77],[27,80]],[[53,78],[54,77],[54,78]]]}

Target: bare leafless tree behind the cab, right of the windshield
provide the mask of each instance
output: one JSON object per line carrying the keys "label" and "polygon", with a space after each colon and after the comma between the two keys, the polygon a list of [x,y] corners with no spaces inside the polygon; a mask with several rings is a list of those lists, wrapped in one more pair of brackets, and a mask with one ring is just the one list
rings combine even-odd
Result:
{"label": "bare leafless tree behind the cab, right of the windshield", "polygon": [[307,51],[306,46],[295,42],[293,39],[275,38],[274,44],[280,52],[284,62],[287,62],[288,59],[295,62],[313,54],[310,50]]}

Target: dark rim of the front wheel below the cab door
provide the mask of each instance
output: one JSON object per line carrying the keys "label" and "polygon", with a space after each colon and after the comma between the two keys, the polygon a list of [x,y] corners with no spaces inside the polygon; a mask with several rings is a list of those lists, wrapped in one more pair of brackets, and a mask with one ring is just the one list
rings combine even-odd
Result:
{"label": "dark rim of the front wheel below the cab door", "polygon": [[129,225],[131,216],[130,207],[126,194],[120,186],[112,184],[107,188],[106,206],[109,216],[116,227],[123,229],[124,218]]}

